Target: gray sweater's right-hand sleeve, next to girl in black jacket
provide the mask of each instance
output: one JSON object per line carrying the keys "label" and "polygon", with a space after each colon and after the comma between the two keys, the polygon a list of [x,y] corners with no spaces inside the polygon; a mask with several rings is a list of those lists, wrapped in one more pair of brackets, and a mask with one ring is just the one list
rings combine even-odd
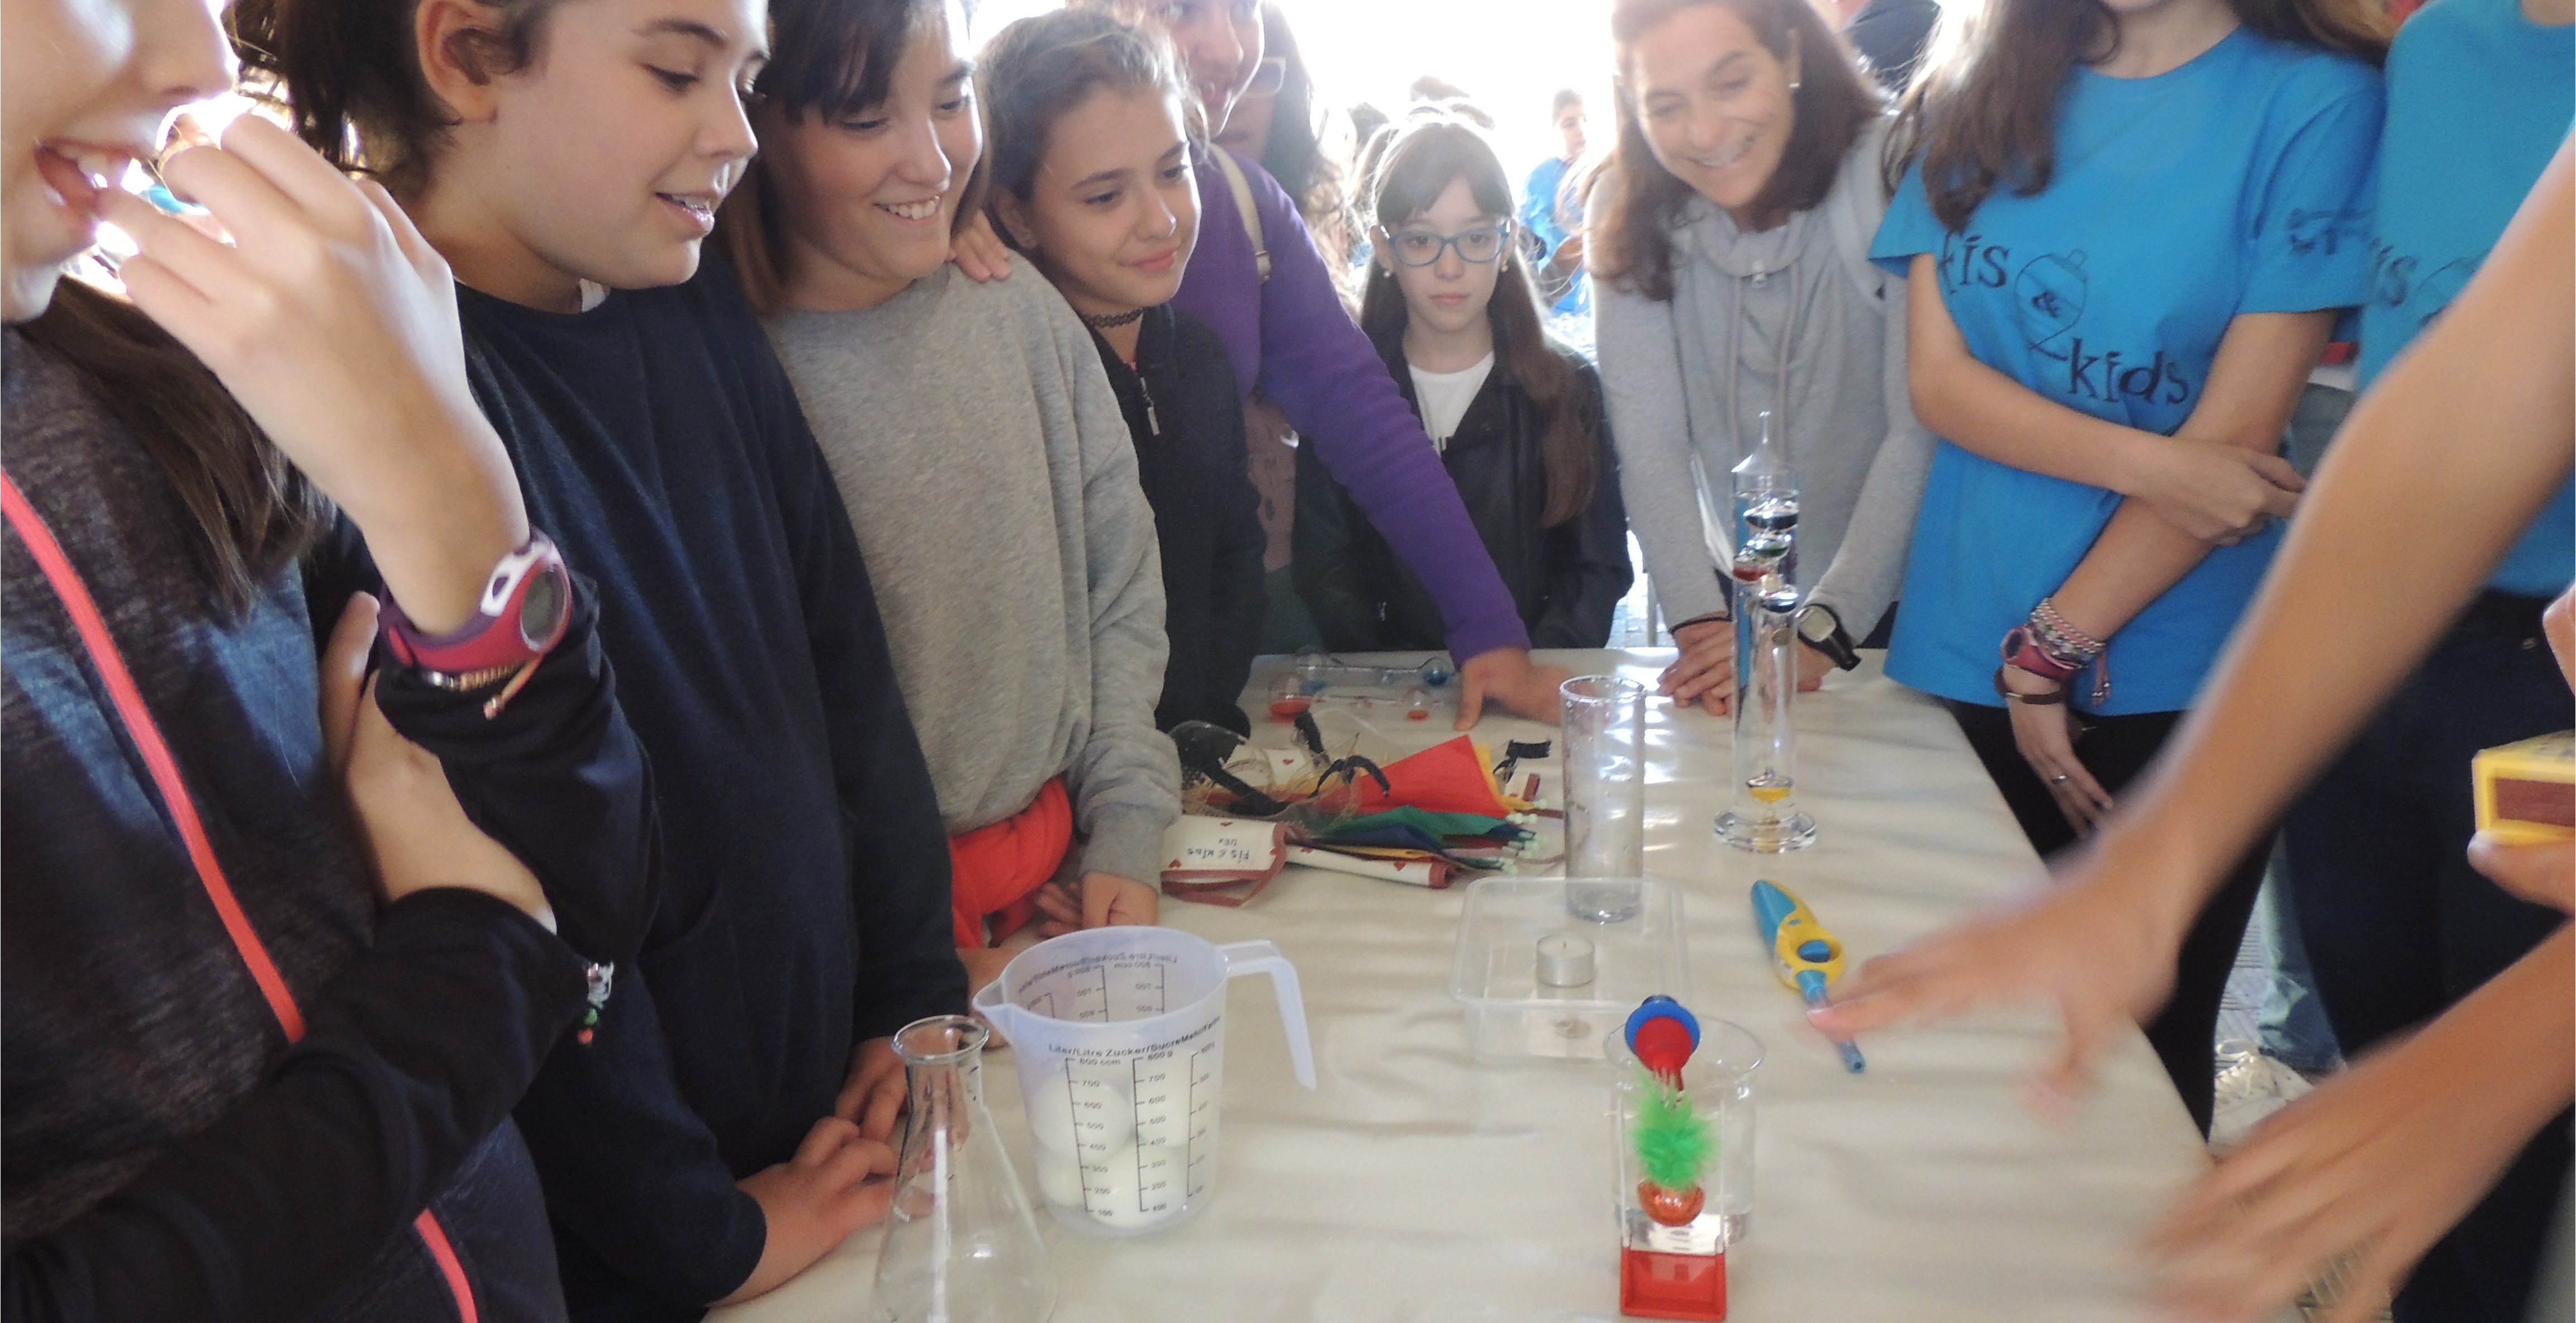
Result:
{"label": "gray sweater's right-hand sleeve, next to girl in black jacket", "polygon": [[1051,417],[1048,427],[1074,432],[1072,445],[1048,438],[1048,453],[1074,450],[1082,461],[1082,564],[1092,605],[1092,723],[1064,782],[1082,834],[1082,870],[1154,885],[1162,831],[1180,816],[1180,757],[1154,728],[1172,651],[1162,633],[1162,543],[1100,350],[1074,309],[1048,304],[1048,337],[1072,386],[1072,414]]}

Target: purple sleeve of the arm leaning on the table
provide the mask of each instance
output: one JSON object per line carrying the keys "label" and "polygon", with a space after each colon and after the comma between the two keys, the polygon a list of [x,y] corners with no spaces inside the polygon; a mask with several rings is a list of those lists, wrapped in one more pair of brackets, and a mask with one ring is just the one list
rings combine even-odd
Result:
{"label": "purple sleeve of the arm leaning on the table", "polygon": [[[1422,435],[1422,422],[1396,394],[1378,350],[1342,311],[1306,221],[1257,162],[1234,160],[1244,167],[1252,206],[1262,216],[1270,281],[1255,286],[1252,242],[1224,172],[1211,162],[1198,172],[1200,250],[1182,281],[1182,311],[1216,327],[1236,368],[1249,358],[1242,335],[1249,329],[1260,337],[1262,394],[1278,402],[1298,440],[1314,445],[1324,468],[1440,602],[1450,656],[1466,662],[1494,649],[1530,646],[1520,610],[1466,517],[1458,486]],[[1255,286],[1249,293],[1260,299],[1257,327],[1247,327],[1242,317],[1244,286]],[[1252,381],[1252,373],[1244,378]]]}

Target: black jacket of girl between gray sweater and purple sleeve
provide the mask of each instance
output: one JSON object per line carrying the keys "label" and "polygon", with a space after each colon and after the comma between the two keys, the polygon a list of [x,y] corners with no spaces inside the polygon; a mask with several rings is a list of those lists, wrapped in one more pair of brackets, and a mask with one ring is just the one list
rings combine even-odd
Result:
{"label": "black jacket of girl between gray sweater and purple sleeve", "polygon": [[1213,721],[1249,734],[1239,698],[1262,628],[1262,520],[1226,345],[1170,304],[1144,311],[1136,365],[1092,332],[1136,440],[1136,479],[1162,543],[1164,633],[1154,726]]}

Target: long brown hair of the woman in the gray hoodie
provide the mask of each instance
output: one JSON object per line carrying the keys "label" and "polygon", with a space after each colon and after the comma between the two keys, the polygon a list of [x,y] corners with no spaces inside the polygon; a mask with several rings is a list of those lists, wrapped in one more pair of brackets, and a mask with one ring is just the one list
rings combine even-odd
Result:
{"label": "long brown hair of the woman in the gray hoodie", "polygon": [[1798,90],[1790,93],[1788,147],[1754,196],[1754,211],[1788,214],[1821,203],[1834,190],[1844,152],[1886,106],[1878,82],[1860,72],[1850,46],[1806,0],[1615,0],[1610,39],[1618,41],[1618,147],[1607,162],[1610,198],[1584,224],[1592,234],[1587,257],[1595,278],[1654,301],[1672,299],[1672,232],[1695,193],[1654,160],[1636,106],[1641,90],[1631,88],[1628,67],[1636,44],[1656,23],[1692,5],[1726,5],[1775,59],[1788,59],[1795,44]]}

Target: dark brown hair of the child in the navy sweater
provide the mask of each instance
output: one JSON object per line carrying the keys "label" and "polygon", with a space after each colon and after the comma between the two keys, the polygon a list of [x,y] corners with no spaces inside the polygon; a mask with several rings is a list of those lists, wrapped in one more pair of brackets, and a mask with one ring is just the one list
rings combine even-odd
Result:
{"label": "dark brown hair of the child in the navy sweater", "polygon": [[[559,3],[482,0],[500,23],[456,33],[451,54],[477,80],[520,72]],[[296,136],[325,160],[384,180],[397,198],[420,193],[430,157],[456,126],[420,72],[417,8],[417,0],[237,0],[227,18],[247,90],[283,103]]]}

